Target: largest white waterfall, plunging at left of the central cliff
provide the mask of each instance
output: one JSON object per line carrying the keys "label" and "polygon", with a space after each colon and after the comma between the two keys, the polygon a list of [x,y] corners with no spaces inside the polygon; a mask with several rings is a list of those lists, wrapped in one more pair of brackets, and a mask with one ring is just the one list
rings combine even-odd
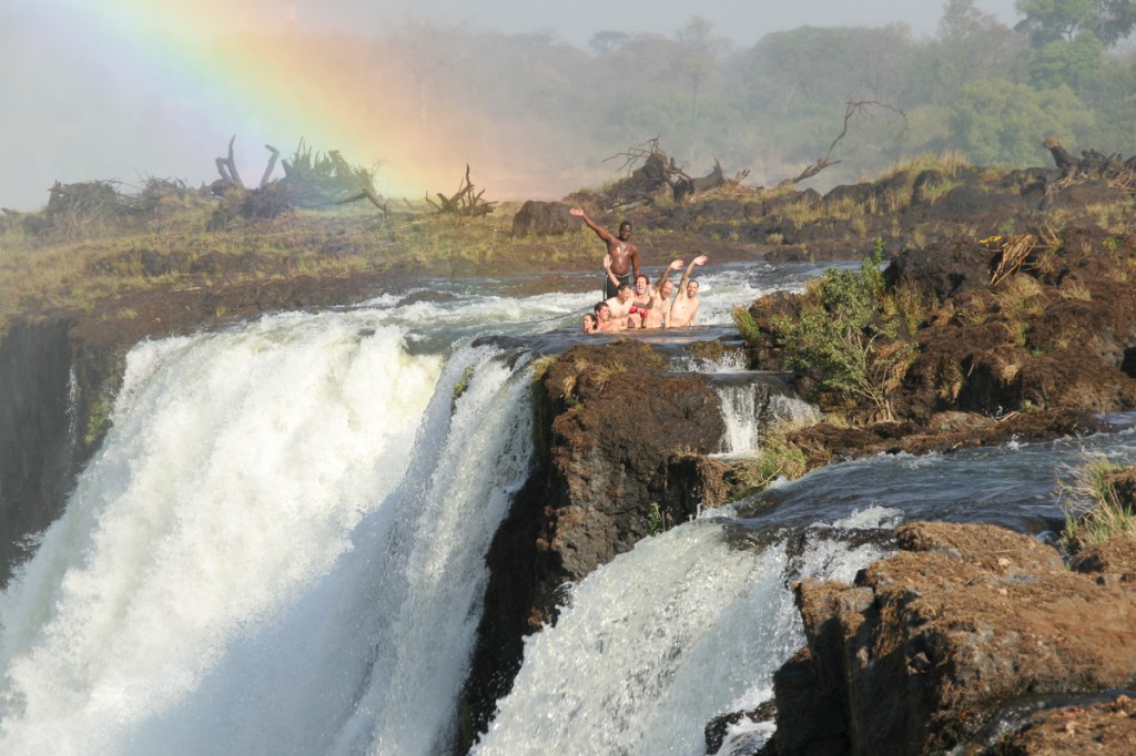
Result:
{"label": "largest white waterfall, plunging at left of the central cliff", "polygon": [[383,322],[131,352],[102,450],[0,595],[0,751],[445,741],[528,383],[488,348],[443,373]]}

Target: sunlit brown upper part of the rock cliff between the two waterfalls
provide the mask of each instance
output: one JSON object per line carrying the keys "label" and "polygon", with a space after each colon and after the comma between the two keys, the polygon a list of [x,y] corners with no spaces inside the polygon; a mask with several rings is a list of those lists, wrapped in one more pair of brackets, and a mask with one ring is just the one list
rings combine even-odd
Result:
{"label": "sunlit brown upper part of the rock cliff between the two waterfalls", "polygon": [[671,468],[717,448],[725,434],[718,396],[702,377],[665,377],[649,345],[624,341],[575,346],[544,378],[554,419],[540,543],[557,582],[586,576],[650,535],[653,509],[663,522],[682,522],[715,490],[691,486],[702,494],[695,497],[668,484]]}

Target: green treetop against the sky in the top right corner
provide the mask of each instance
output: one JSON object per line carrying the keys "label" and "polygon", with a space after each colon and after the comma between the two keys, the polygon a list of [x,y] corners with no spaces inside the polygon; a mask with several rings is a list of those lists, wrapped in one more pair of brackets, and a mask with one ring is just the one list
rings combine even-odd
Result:
{"label": "green treetop against the sky in the top right corner", "polygon": [[1017,0],[1014,8],[1024,16],[1014,28],[1037,48],[1085,32],[1109,48],[1136,28],[1136,0]]}

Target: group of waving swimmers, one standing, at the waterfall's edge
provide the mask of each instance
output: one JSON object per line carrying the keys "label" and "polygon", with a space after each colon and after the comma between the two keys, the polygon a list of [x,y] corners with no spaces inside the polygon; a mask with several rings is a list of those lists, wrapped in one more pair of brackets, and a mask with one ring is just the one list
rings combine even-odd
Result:
{"label": "group of waving swimmers, one standing, at the waterfall's edge", "polygon": [[651,284],[650,277],[640,272],[638,247],[630,242],[632,225],[619,224],[618,235],[598,226],[582,208],[569,212],[580,218],[587,227],[608,245],[603,257],[603,300],[595,303],[592,312],[585,313],[580,333],[612,334],[635,328],[680,328],[693,326],[699,312],[699,282],[691,279],[695,266],[705,264],[707,255],[694,258],[678,283],[668,280],[670,274],[685,264],[674,260]]}

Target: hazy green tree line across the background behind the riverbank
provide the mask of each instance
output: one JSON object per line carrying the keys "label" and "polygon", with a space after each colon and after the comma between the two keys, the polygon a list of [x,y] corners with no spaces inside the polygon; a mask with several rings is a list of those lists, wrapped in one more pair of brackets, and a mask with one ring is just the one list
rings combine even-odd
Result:
{"label": "hazy green tree line across the background behind the riverbank", "polygon": [[[587,49],[554,32],[466,33],[418,24],[374,40],[384,75],[412,90],[399,117],[460,120],[562,170],[658,137],[698,171],[718,159],[766,185],[822,154],[850,101],[886,103],[851,124],[838,166],[858,180],[927,152],[976,165],[1049,165],[1042,140],[1131,153],[1131,0],[1019,0],[1010,27],[947,0],[936,33],[904,25],[804,26],[734,48],[692,17],[674,36],[604,31]],[[902,117],[901,117],[902,115]]]}

